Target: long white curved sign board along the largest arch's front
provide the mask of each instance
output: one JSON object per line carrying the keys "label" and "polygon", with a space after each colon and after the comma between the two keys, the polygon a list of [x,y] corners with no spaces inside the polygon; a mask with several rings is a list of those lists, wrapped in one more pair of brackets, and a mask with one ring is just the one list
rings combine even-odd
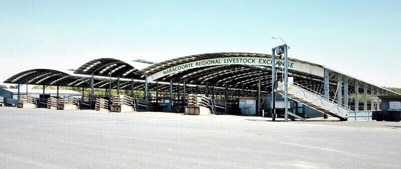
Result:
{"label": "long white curved sign board along the largest arch's front", "polygon": [[[284,61],[283,60],[275,60],[275,66],[281,66],[284,67]],[[166,75],[179,72],[179,71],[184,71],[192,68],[197,68],[197,67],[205,67],[205,66],[212,66],[212,65],[226,65],[226,64],[248,64],[248,65],[272,65],[272,59],[271,57],[222,57],[222,58],[211,58],[211,59],[205,59],[205,60],[197,60],[197,61],[192,61],[188,63],[183,63],[179,64],[176,66],[172,66],[169,68],[166,68],[164,70],[161,70],[159,72],[156,72],[150,76],[148,76],[147,81],[151,82],[153,80],[156,80],[160,77],[164,77]],[[309,73],[309,74],[314,74],[323,77],[324,69],[323,67],[311,65],[311,64],[306,64],[298,61],[291,61],[288,60],[288,68]]]}

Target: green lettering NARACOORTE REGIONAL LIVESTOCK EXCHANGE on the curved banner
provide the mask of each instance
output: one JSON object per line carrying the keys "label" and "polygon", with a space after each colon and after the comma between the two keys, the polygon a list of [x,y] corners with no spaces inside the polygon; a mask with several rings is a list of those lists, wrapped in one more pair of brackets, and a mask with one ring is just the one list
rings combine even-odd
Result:
{"label": "green lettering NARACOORTE REGIONAL LIVESTOCK EXCHANGE on the curved banner", "polygon": [[[174,71],[182,71],[188,68],[193,67],[202,67],[209,65],[218,65],[218,64],[257,64],[257,65],[271,65],[272,60],[266,58],[220,58],[220,59],[208,59],[202,61],[195,61],[186,64],[181,64],[177,66],[173,66],[169,69],[163,70],[163,74],[169,74]],[[275,65],[284,66],[284,61],[276,61]],[[288,67],[293,68],[294,63],[288,62]]]}

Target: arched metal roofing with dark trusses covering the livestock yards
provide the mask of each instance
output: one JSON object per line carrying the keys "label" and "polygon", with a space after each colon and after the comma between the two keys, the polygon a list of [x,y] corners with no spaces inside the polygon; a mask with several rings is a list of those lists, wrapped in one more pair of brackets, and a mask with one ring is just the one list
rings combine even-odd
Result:
{"label": "arched metal roofing with dark trusses covering the livestock yards", "polygon": [[[272,87],[272,72],[271,65],[255,65],[252,63],[243,64],[216,64],[216,65],[203,65],[194,66],[193,68],[185,68],[179,71],[169,72],[160,78],[155,78],[154,74],[160,73],[163,70],[171,69],[174,67],[179,68],[181,65],[202,62],[204,60],[218,59],[218,58],[271,58],[269,54],[261,53],[246,53],[246,52],[221,52],[221,53],[204,53],[189,56],[183,56],[165,60],[159,63],[149,62],[146,60],[139,60],[140,62],[153,63],[143,69],[137,69],[130,61],[122,61],[115,58],[98,58],[88,61],[74,70],[73,73],[66,73],[59,70],[52,69],[32,69],[20,72],[5,80],[5,83],[18,83],[18,84],[40,84],[40,85],[60,85],[60,86],[79,86],[91,87],[91,77],[93,75],[94,88],[117,88],[131,89],[132,81],[134,82],[134,90],[144,90],[145,78],[153,78],[157,80],[149,82],[148,89],[159,91],[170,90],[170,79],[175,83],[173,91],[177,91],[177,84],[182,85],[185,81],[186,92],[199,93],[206,92],[208,86],[209,92],[214,90],[216,95],[224,95],[226,87],[228,88],[229,95],[239,95],[240,92],[249,96],[256,96],[256,91],[259,88],[259,79],[262,92],[271,92]],[[315,64],[312,62],[299,60],[295,58],[288,58],[290,62],[296,62],[303,65],[317,67],[320,69],[327,69],[329,71],[329,95],[335,95],[338,82],[337,76],[348,77],[348,92],[354,93],[355,83],[358,80],[358,90],[363,92],[363,86],[379,88],[382,92],[399,95],[385,88],[357,79],[337,70],[325,67],[323,65]],[[280,60],[276,57],[276,60]],[[138,60],[131,60],[138,61]],[[279,63],[280,65],[280,63]],[[276,68],[277,78],[283,78],[282,67]],[[294,77],[294,82],[300,83],[307,88],[323,94],[324,92],[324,78],[319,73],[308,73],[305,70],[293,68],[289,69],[289,76]],[[118,83],[116,81],[119,81]],[[343,84],[341,84],[343,85]],[[200,87],[196,87],[200,86]],[[182,88],[182,87],[181,87]],[[343,90],[343,87],[342,87]]]}

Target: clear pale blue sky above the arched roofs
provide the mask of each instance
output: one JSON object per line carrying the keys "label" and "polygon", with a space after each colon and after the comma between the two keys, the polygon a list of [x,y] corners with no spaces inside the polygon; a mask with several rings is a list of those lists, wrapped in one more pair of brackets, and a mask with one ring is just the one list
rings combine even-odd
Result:
{"label": "clear pale blue sky above the arched roofs", "polygon": [[[101,57],[271,53],[401,87],[400,0],[0,0],[0,83]],[[11,84],[6,84],[11,85]]]}

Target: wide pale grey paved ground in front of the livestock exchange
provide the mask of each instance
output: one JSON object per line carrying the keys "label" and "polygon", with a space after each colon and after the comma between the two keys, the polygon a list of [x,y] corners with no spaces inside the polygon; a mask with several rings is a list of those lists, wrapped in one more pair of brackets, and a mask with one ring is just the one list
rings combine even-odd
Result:
{"label": "wide pale grey paved ground in front of the livestock exchange", "polygon": [[0,168],[400,168],[401,123],[0,108]]}

